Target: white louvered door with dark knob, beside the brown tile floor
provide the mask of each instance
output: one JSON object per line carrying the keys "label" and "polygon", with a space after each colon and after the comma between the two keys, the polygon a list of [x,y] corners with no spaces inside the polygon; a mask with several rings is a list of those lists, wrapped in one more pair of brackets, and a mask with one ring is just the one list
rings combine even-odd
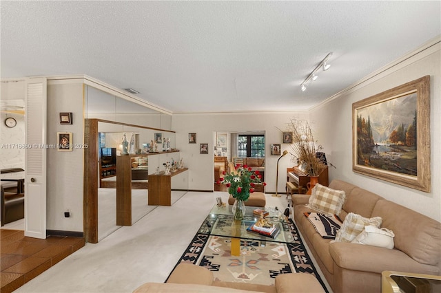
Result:
{"label": "white louvered door with dark knob, beside the brown tile floor", "polygon": [[26,80],[25,236],[46,238],[46,78]]}

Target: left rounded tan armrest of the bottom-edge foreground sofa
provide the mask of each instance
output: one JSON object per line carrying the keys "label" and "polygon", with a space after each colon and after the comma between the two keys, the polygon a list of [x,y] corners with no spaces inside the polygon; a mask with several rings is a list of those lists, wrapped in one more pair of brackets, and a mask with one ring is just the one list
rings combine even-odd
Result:
{"label": "left rounded tan armrest of the bottom-edge foreground sofa", "polygon": [[167,279],[167,283],[212,285],[213,273],[199,265],[179,263]]}

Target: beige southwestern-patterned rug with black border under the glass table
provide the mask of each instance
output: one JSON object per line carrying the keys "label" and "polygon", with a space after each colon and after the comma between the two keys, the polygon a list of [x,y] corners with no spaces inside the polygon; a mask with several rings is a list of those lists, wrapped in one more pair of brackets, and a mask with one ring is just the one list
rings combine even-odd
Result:
{"label": "beige southwestern-patterned rug with black border under the glass table", "polygon": [[278,274],[307,272],[314,274],[327,291],[294,222],[289,219],[294,243],[240,239],[240,256],[231,254],[231,238],[198,233],[185,250],[181,262],[201,265],[214,274],[216,281],[274,285]]}

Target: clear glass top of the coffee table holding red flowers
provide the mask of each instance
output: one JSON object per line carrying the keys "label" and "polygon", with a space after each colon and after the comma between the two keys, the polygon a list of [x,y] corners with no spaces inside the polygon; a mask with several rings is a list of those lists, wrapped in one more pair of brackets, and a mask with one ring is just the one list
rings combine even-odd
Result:
{"label": "clear glass top of the coffee table holding red flowers", "polygon": [[284,243],[293,243],[294,237],[291,235],[289,225],[286,221],[280,220],[280,211],[274,208],[261,208],[269,212],[265,217],[270,224],[280,229],[275,238],[247,231],[247,228],[258,221],[259,216],[253,214],[253,210],[258,207],[247,206],[244,219],[242,221],[234,221],[232,206],[215,205],[209,215],[203,222],[199,232],[208,235],[236,237],[243,239],[256,239],[263,241],[276,241]]}

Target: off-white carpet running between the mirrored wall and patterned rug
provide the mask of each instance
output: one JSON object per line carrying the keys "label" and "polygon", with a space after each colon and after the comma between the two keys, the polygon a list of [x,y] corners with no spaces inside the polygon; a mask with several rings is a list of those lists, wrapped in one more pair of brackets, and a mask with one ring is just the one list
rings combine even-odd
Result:
{"label": "off-white carpet running between the mirrored wall and patterned rug", "polygon": [[[15,292],[132,292],[145,282],[163,283],[216,197],[227,202],[228,193],[189,192],[172,206],[158,206],[133,226],[85,243]],[[287,206],[285,195],[266,198],[267,206]]]}

